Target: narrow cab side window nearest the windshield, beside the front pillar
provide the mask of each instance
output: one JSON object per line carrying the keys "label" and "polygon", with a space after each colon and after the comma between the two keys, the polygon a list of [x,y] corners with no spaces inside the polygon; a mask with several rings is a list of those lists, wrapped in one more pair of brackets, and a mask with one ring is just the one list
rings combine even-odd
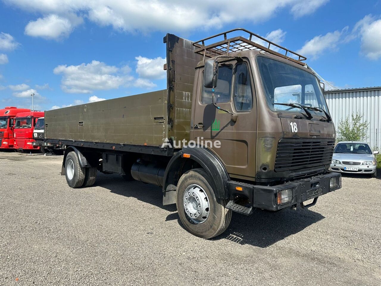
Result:
{"label": "narrow cab side window nearest the windshield, beside the front pillar", "polygon": [[237,111],[250,111],[253,108],[250,74],[245,63],[235,67],[234,106]]}

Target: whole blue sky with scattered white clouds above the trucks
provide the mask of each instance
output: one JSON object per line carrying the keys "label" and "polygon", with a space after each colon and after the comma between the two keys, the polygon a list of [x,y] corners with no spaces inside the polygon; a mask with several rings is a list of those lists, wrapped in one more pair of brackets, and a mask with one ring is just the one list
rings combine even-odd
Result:
{"label": "whole blue sky with scattered white clouds above the trucks", "polygon": [[0,108],[31,108],[32,92],[48,110],[164,89],[167,32],[234,27],[306,55],[335,87],[381,85],[379,0],[0,0]]}

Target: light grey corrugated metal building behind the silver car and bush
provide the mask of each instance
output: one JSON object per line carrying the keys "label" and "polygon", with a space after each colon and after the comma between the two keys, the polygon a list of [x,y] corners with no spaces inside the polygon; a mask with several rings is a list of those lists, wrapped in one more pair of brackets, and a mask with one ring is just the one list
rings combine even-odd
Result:
{"label": "light grey corrugated metal building behind the silver car and bush", "polygon": [[369,123],[366,141],[371,148],[381,150],[381,87],[327,90],[325,98],[336,131],[341,120],[347,116],[351,119],[352,113],[358,112]]}

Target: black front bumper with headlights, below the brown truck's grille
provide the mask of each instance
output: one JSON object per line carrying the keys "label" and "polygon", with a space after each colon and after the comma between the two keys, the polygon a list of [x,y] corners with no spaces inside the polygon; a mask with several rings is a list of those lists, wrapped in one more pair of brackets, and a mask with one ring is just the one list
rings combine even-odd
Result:
{"label": "black front bumper with headlights, below the brown truck's grille", "polygon": [[316,199],[323,194],[341,188],[341,175],[327,173],[311,178],[295,180],[276,186],[258,186],[229,181],[228,190],[231,200],[247,198],[250,206],[266,210],[280,210],[298,203]]}

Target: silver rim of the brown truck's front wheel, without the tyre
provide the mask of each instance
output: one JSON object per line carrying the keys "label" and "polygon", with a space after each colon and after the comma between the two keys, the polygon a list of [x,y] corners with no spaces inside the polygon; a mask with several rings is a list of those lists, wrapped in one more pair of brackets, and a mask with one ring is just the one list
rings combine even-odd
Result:
{"label": "silver rim of the brown truck's front wheel, without the tyre", "polygon": [[194,223],[205,222],[209,217],[209,199],[207,193],[199,185],[187,187],[183,206],[186,216]]}

